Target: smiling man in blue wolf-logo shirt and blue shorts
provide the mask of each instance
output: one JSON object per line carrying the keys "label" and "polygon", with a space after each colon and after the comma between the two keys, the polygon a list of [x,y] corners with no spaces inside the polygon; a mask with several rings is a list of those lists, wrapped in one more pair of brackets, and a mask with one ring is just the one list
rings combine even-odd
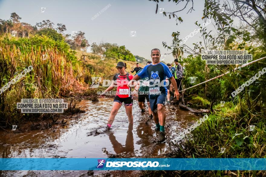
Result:
{"label": "smiling man in blue wolf-logo shirt and blue shorts", "polygon": [[[154,122],[156,124],[156,131],[160,130],[159,141],[162,142],[165,140],[165,132],[164,132],[164,124],[165,124],[165,112],[164,105],[166,104],[166,95],[167,88],[166,86],[166,77],[171,81],[175,92],[174,97],[179,100],[179,93],[177,89],[177,83],[173,77],[173,74],[169,70],[169,68],[160,62],[160,50],[152,49],[151,50],[151,58],[152,64],[146,65],[142,71],[140,71],[137,75],[135,75],[132,81],[138,81],[140,78],[149,77],[149,100],[150,106],[153,113]],[[131,85],[129,81],[128,86]]]}

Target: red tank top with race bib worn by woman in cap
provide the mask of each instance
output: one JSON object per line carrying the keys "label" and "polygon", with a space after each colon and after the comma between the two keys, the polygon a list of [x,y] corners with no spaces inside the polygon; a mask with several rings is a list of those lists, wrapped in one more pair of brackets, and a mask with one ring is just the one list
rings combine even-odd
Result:
{"label": "red tank top with race bib worn by woman in cap", "polygon": [[[132,80],[134,76],[132,74],[128,74],[128,77],[129,80]],[[117,76],[115,74],[113,80],[115,80],[115,85],[118,86],[116,87],[116,96],[118,96],[119,98],[128,98],[131,96],[130,87],[127,86],[128,84],[127,75],[118,74]]]}

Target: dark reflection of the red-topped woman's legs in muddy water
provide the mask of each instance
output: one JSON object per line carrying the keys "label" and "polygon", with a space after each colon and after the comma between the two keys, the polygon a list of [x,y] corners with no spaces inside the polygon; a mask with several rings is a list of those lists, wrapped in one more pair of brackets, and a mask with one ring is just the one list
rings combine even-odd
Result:
{"label": "dark reflection of the red-topped woman's legs in muddy water", "polygon": [[122,146],[121,143],[119,143],[115,139],[115,135],[113,132],[109,133],[109,139],[112,143],[112,146],[114,148],[115,153],[120,154],[120,153],[134,153],[134,139],[133,139],[133,124],[128,125],[128,131],[127,131],[127,138],[126,138],[126,144],[125,146]]}

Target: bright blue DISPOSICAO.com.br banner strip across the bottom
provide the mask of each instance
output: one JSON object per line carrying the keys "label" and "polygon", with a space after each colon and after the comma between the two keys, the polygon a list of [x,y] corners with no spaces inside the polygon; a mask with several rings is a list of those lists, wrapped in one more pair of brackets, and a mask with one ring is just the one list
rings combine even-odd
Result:
{"label": "bright blue DISPOSICAO.com.br banner strip across the bottom", "polygon": [[266,159],[0,158],[0,170],[266,170]]}

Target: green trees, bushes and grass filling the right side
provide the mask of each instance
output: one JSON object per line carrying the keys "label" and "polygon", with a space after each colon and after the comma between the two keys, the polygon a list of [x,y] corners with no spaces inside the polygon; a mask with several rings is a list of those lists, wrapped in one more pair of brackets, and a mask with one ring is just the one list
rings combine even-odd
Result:
{"label": "green trees, bushes and grass filling the right side", "polygon": [[[156,0],[151,1],[160,3]],[[185,8],[189,5],[193,7],[190,0],[185,0],[185,2],[173,0],[173,2],[179,6],[185,3]],[[253,60],[265,57],[266,16],[265,8],[262,8],[265,2],[227,0],[223,3],[220,4],[216,0],[205,1],[202,19],[204,22],[211,19],[215,30],[209,31],[208,27],[203,27],[196,22],[203,42],[194,43],[194,48],[182,43],[178,31],[172,33],[171,44],[163,42],[163,46],[178,57],[185,67],[183,88],[230,71],[215,80],[185,90],[184,97],[188,105],[193,105],[192,107],[197,109],[210,109],[211,114],[202,125],[187,134],[182,142],[170,144],[170,153],[167,155],[170,158],[265,158],[266,93],[264,90],[266,75],[262,74],[237,96],[231,95],[239,86],[266,67],[265,59],[235,71],[233,69],[238,65],[205,65],[205,62],[201,60],[201,55],[206,54],[207,50],[247,50],[253,55]],[[234,5],[229,6],[230,3]],[[247,7],[250,13],[247,13]],[[177,12],[164,12],[164,15],[176,18],[180,23],[183,22]],[[240,17],[241,24],[236,24],[233,17]],[[182,57],[180,52],[190,55]],[[190,77],[196,77],[196,82],[190,83]],[[196,97],[187,97],[192,94]],[[225,101],[225,104],[222,105],[221,101]],[[255,125],[254,131],[249,131],[250,125]],[[225,152],[220,153],[220,148],[225,148]],[[248,170],[143,171],[143,175],[265,176],[265,172]]]}

